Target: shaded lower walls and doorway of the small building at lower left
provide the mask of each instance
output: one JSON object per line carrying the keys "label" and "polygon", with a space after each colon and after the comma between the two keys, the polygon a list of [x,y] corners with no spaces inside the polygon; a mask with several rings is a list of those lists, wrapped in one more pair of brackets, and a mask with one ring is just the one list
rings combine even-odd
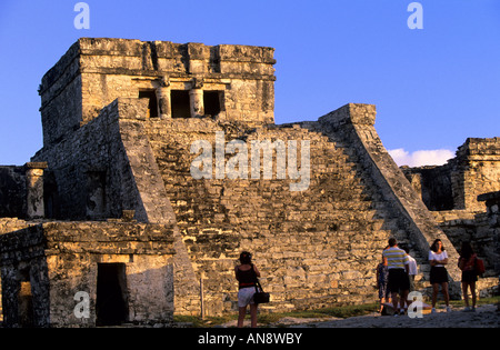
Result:
{"label": "shaded lower walls and doorway of the small building at lower left", "polygon": [[2,267],[4,327],[170,324],[173,320],[172,266],[127,273],[133,263],[93,263],[88,276],[69,277],[66,271],[49,283],[47,262],[38,263],[44,267]]}

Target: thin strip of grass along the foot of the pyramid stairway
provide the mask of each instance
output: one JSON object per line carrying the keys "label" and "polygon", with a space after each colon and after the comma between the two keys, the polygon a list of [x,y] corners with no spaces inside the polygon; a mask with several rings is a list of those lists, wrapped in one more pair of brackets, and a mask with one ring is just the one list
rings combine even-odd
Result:
{"label": "thin strip of grass along the foot of the pyramid stairway", "polygon": [[[492,304],[492,303],[499,303],[500,297],[492,297],[492,298],[481,298],[478,300],[477,304]],[[463,300],[451,300],[450,304],[453,308],[462,308],[464,307]],[[438,307],[443,306],[442,301],[438,301]],[[272,313],[259,313],[258,316],[258,322],[267,326],[271,324],[273,322],[277,322],[278,320],[286,318],[286,317],[293,317],[293,318],[349,318],[349,317],[356,317],[356,316],[362,316],[368,313],[377,312],[379,309],[378,303],[370,303],[370,304],[361,304],[361,306],[346,306],[346,307],[336,307],[336,308],[327,308],[327,309],[320,309],[320,310],[308,310],[308,311],[296,311],[296,312],[272,312]],[[249,318],[249,316],[247,316]],[[187,327],[214,327],[219,324],[227,323],[232,320],[237,320],[238,314],[234,312],[234,314],[228,314],[224,317],[206,317],[204,319],[201,319],[200,317],[192,317],[192,316],[174,316],[173,320],[177,323],[184,323]]]}

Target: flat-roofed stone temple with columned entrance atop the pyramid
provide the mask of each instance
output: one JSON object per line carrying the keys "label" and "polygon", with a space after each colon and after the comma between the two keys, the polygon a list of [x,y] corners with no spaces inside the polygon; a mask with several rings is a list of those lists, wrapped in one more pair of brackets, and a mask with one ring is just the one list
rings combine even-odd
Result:
{"label": "flat-roofed stone temple with columned entrance atop the pyramid", "polygon": [[156,94],[158,117],[172,117],[172,90],[190,91],[192,117],[206,114],[203,93],[217,91],[219,119],[273,122],[273,52],[250,46],[81,38],[42,79],[44,146],[98,117],[117,98],[138,98],[147,90]]}

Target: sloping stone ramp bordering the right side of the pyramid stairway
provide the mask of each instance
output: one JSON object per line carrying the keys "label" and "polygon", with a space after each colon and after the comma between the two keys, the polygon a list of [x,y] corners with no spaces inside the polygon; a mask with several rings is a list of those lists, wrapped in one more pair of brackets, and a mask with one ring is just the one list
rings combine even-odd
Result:
{"label": "sloping stone ramp bordering the right side of the pyramid stairway", "polygon": [[[427,259],[429,247],[436,238],[441,239],[446,247],[452,247],[421,198],[388,154],[373,127],[374,120],[374,106],[349,103],[321,117],[319,123],[332,140],[350,149],[363,177],[372,179],[391,214],[398,218],[399,232],[407,236],[417,252]],[[456,251],[450,250],[448,253],[451,260],[458,259]],[[460,280],[456,267],[449,267],[448,271],[453,281]],[[459,286],[452,287],[453,292],[459,293]]]}

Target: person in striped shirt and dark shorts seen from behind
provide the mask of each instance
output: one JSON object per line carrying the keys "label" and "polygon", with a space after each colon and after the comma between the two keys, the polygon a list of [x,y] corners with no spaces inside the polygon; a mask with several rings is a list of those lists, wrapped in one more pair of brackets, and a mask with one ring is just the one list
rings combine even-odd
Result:
{"label": "person in striped shirt and dark shorts seen from behind", "polygon": [[396,238],[389,239],[389,248],[382,252],[383,264],[389,269],[388,288],[391,291],[394,316],[398,316],[398,293],[399,314],[404,314],[407,298],[410,290],[410,279],[408,277],[408,263],[410,262],[404,250],[398,247]]}

